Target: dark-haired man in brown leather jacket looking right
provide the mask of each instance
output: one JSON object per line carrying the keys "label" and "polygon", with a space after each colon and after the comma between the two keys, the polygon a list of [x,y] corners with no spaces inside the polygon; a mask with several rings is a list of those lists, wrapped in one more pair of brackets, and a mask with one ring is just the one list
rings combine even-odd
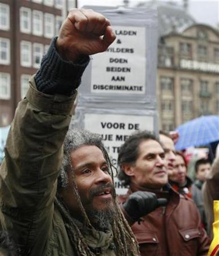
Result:
{"label": "dark-haired man in brown leather jacket looking right", "polygon": [[[118,163],[119,179],[130,186],[119,201],[141,255],[207,255],[209,238],[201,228],[196,205],[168,184],[165,151],[155,136],[146,131],[131,135],[120,148]],[[145,191],[166,198],[166,207],[145,215]]]}

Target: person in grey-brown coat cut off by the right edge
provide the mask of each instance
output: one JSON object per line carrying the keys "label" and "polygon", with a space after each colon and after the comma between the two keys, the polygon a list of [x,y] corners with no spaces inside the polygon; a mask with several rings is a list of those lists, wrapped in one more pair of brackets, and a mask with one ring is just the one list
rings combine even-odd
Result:
{"label": "person in grey-brown coat cut off by the right edge", "polygon": [[202,187],[203,203],[207,217],[208,235],[213,238],[212,224],[214,222],[213,201],[219,200],[219,151],[213,161],[207,180]]}

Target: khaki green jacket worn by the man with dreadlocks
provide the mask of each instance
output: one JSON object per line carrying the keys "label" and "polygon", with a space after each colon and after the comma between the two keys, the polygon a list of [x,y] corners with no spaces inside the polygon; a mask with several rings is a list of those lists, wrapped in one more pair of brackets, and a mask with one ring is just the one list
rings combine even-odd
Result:
{"label": "khaki green jacket worn by the man with dreadlocks", "polygon": [[[74,98],[43,94],[32,77],[11,125],[0,173],[0,228],[13,232],[25,256],[75,255],[54,209]],[[111,233],[87,230],[84,237],[90,246],[105,249],[99,255],[115,255],[108,248]]]}

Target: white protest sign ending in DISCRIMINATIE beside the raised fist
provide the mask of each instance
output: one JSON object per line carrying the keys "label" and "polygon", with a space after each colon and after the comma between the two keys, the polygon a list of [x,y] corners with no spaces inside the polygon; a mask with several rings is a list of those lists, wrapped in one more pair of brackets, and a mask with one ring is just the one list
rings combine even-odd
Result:
{"label": "white protest sign ending in DISCRIMINATIE beside the raised fist", "polygon": [[113,26],[116,40],[92,56],[92,93],[145,93],[145,27]]}

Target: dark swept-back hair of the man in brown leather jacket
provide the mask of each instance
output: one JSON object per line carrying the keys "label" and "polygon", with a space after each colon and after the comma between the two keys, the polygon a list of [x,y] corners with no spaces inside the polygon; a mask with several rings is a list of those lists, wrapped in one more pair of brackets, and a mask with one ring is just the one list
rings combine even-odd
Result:
{"label": "dark swept-back hair of the man in brown leather jacket", "polygon": [[139,155],[140,143],[150,139],[160,143],[154,133],[150,133],[150,131],[137,131],[131,134],[127,141],[120,147],[117,161],[119,166],[117,177],[123,181],[124,185],[130,184],[130,176],[123,171],[123,164],[135,164]]}

